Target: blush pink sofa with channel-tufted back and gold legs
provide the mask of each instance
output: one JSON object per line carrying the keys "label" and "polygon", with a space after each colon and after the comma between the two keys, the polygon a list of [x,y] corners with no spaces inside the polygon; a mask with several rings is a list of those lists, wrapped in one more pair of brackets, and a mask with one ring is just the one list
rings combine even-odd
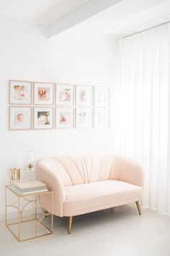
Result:
{"label": "blush pink sofa with channel-tufted back and gold legs", "polygon": [[[136,202],[140,212],[143,168],[114,155],[56,156],[38,163],[38,177],[53,191],[53,214],[73,216]],[[50,211],[48,200],[42,207]]]}

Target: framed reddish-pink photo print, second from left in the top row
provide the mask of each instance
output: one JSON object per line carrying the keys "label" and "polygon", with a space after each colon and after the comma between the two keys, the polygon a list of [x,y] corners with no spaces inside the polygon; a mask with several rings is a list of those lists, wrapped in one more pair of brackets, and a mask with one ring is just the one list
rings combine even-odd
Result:
{"label": "framed reddish-pink photo print, second from left in the top row", "polygon": [[34,104],[53,105],[54,85],[50,82],[34,82]]}

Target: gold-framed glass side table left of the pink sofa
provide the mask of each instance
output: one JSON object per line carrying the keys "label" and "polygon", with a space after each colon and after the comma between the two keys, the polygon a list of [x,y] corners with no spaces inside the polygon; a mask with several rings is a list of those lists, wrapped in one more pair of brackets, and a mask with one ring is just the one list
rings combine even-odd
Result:
{"label": "gold-framed glass side table left of the pink sofa", "polygon": [[[41,197],[50,200],[50,213],[40,207]],[[8,218],[9,210],[14,218]],[[25,195],[19,192],[15,185],[6,186],[6,228],[12,232],[18,242],[52,234],[53,192],[32,191],[31,194]]]}

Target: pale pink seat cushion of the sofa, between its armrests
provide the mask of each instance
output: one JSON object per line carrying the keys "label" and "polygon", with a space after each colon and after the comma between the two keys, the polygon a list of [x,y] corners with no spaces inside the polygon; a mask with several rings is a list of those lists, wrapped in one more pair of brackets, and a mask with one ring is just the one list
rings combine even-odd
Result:
{"label": "pale pink seat cushion of the sofa, between its armrests", "polygon": [[76,216],[96,210],[112,208],[141,199],[143,188],[107,180],[64,187],[66,201],[63,202],[63,216]]}

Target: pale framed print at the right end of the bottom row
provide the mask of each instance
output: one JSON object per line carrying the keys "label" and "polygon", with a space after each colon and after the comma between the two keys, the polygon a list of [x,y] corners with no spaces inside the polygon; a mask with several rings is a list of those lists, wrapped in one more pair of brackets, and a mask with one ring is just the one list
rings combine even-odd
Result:
{"label": "pale framed print at the right end of the bottom row", "polygon": [[94,108],[94,128],[109,127],[109,108]]}

